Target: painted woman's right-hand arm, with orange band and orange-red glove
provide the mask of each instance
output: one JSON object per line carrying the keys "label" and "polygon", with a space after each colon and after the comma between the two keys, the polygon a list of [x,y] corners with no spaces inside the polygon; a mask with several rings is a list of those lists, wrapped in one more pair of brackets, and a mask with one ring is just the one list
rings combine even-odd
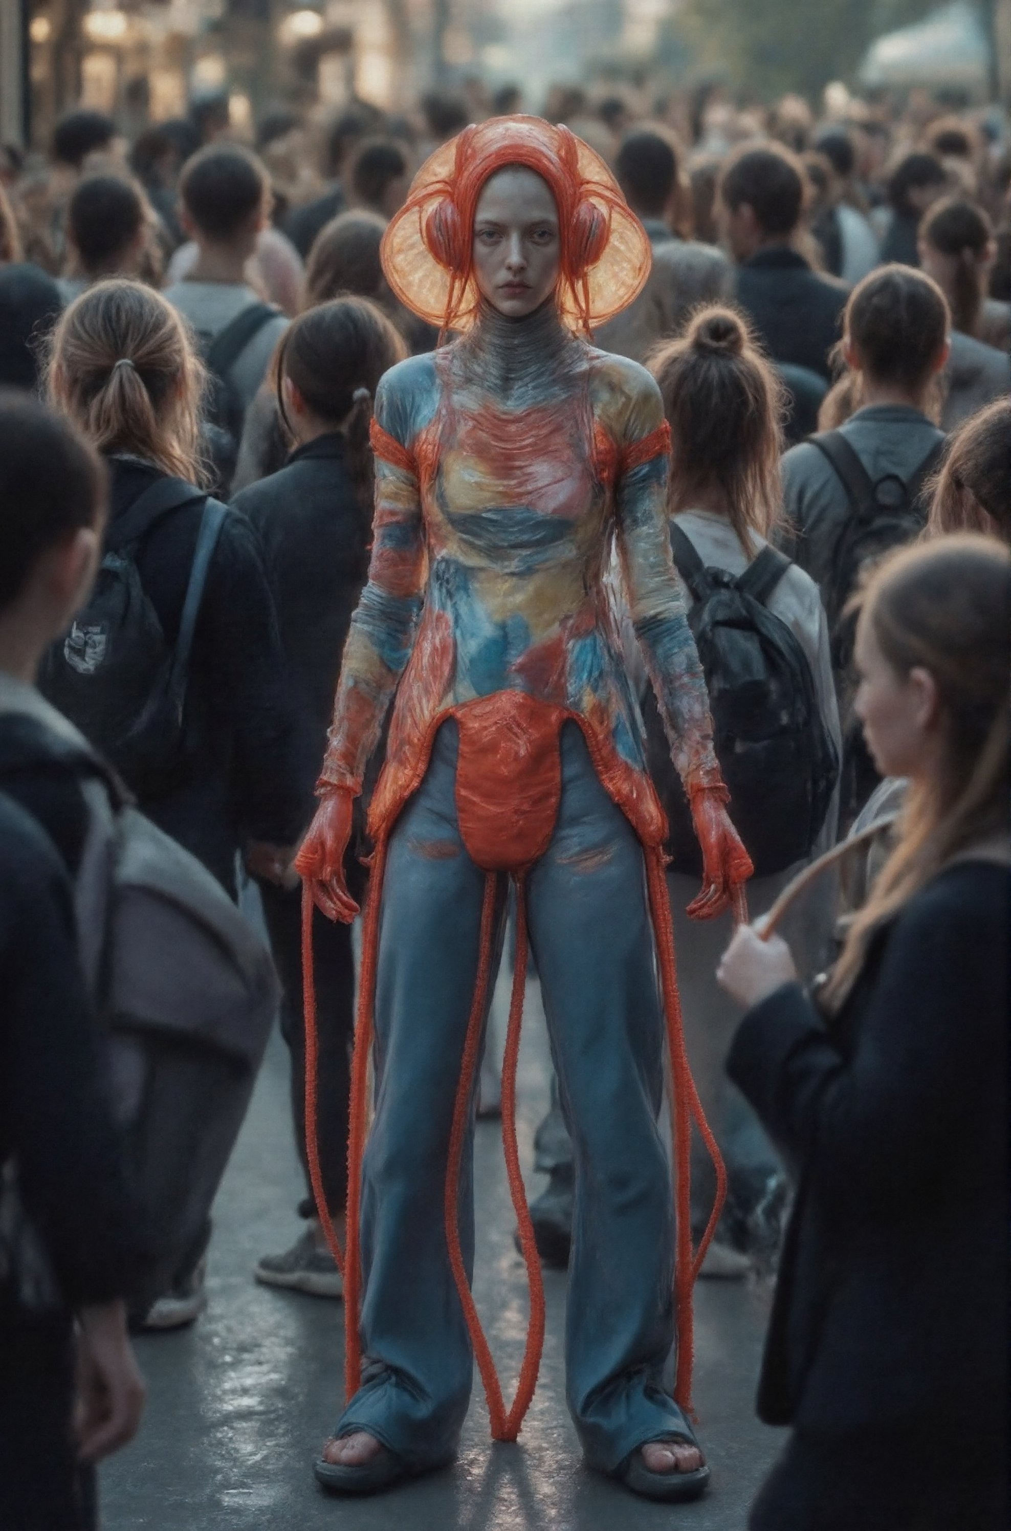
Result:
{"label": "painted woman's right-hand arm, with orange band and orange-red glove", "polygon": [[[625,366],[631,369],[630,363]],[[734,886],[751,877],[752,867],[726,813],[728,792],[712,749],[709,695],[671,557],[669,432],[660,390],[642,367],[625,384],[614,485],[617,550],[633,628],[703,851],[705,885],[689,914],[712,917],[728,906]]]}

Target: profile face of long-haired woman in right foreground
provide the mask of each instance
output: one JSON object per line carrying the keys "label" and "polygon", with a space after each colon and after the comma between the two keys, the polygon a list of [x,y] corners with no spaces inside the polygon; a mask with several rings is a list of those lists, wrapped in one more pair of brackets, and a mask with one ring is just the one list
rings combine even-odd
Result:
{"label": "profile face of long-haired woman in right foreground", "polygon": [[873,625],[861,619],[856,629],[859,686],[853,710],[882,776],[931,775],[941,750],[937,684],[930,671],[916,668],[901,675],[881,652]]}

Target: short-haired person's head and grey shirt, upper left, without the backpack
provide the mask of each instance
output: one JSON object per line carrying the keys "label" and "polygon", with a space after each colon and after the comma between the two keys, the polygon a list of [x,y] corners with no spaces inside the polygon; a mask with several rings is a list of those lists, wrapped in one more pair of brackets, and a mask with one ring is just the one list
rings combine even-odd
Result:
{"label": "short-haired person's head and grey shirt, upper left, without the backpack", "polygon": [[[270,311],[248,285],[245,266],[267,228],[270,182],[263,165],[234,144],[210,144],[182,168],[179,219],[196,243],[196,262],[165,297],[188,320],[207,354],[240,315],[256,308],[259,323],[224,367],[242,410],[267,375],[274,348],[288,320]],[[233,334],[239,334],[237,329]]]}

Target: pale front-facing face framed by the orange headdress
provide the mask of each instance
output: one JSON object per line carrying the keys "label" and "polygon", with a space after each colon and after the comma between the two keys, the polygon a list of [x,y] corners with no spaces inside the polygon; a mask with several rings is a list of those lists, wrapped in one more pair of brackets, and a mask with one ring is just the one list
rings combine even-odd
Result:
{"label": "pale front-facing face framed by the orange headdress", "polygon": [[533,314],[558,285],[561,236],[550,187],[507,165],[486,181],[473,217],[473,276],[481,295],[509,318]]}

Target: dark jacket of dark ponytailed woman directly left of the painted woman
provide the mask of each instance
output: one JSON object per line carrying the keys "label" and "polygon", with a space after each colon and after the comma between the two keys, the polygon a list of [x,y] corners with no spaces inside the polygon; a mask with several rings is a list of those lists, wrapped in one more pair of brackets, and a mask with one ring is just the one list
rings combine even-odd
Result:
{"label": "dark jacket of dark ponytailed woman directly left of the painted woman", "polygon": [[311,729],[311,788],[332,720],[340,657],[368,573],[369,519],[345,467],[345,439],[317,436],[233,505],[263,544],[296,706]]}

